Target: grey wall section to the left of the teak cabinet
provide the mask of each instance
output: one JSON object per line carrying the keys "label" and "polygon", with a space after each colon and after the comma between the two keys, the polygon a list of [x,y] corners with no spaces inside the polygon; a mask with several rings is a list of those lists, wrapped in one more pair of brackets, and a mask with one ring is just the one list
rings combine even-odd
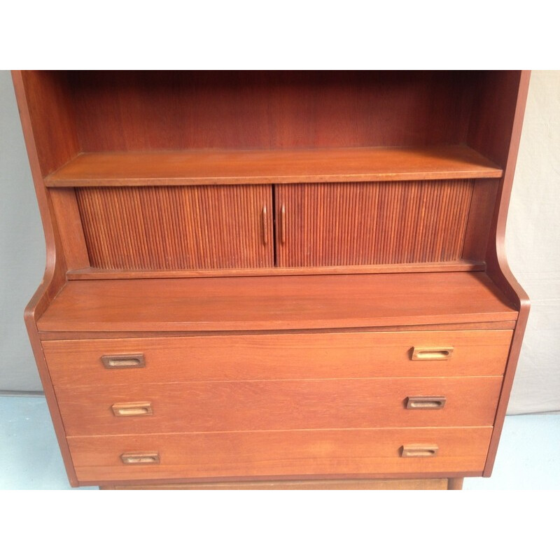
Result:
{"label": "grey wall section to the left of the teak cabinet", "polygon": [[23,310],[45,269],[45,240],[9,71],[0,71],[0,391],[40,391]]}

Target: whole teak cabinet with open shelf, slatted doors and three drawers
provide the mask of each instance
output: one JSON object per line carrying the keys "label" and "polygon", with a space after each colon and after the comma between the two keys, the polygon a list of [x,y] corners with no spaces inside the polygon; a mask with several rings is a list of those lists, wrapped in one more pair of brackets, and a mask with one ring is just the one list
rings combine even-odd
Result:
{"label": "whole teak cabinet with open shelf, slatted doors and three drawers", "polygon": [[16,71],[73,486],[459,488],[528,314],[521,71]]}

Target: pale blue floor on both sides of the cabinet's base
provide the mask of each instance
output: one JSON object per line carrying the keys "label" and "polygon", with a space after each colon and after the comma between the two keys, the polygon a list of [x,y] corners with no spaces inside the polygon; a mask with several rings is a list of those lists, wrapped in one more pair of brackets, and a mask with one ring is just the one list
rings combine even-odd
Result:
{"label": "pale blue floor on both sides of the cabinet's base", "polygon": [[[0,489],[70,489],[42,396],[0,396],[0,449]],[[560,489],[560,414],[507,416],[492,477],[463,489]]]}

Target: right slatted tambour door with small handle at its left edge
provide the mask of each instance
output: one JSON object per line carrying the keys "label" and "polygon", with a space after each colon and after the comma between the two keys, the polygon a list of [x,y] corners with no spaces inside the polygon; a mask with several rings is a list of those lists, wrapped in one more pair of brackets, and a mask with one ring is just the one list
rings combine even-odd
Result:
{"label": "right slatted tambour door with small handle at its left edge", "polygon": [[461,259],[472,180],[275,186],[278,265]]}

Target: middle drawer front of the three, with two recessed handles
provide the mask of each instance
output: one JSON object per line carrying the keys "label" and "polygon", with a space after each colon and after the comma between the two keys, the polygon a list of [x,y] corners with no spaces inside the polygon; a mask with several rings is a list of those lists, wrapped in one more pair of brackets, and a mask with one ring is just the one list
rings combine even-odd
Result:
{"label": "middle drawer front of the three, with two recessed handles", "polygon": [[501,377],[57,388],[66,435],[492,426]]}

